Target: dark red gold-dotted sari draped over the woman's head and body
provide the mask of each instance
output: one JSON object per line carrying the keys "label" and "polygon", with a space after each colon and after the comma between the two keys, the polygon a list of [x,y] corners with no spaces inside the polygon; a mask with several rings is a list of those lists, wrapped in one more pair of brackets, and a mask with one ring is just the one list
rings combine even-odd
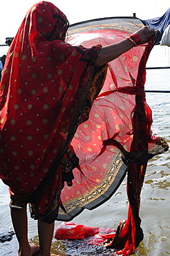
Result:
{"label": "dark red gold-dotted sari draped over the woman's head and body", "polygon": [[[6,57],[0,91],[0,170],[14,205],[24,204],[46,179],[54,160],[61,160],[90,98],[101,46],[70,46],[64,42],[67,28],[68,20],[57,7],[37,3],[23,19]],[[32,206],[36,214],[43,217],[56,208],[61,188],[59,165]]]}

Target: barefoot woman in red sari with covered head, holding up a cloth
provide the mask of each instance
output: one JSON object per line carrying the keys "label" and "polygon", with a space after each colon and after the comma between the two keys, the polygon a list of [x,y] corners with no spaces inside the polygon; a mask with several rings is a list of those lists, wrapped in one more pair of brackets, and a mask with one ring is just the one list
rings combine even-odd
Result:
{"label": "barefoot woman in red sari with covered head, holding up a cloth", "polygon": [[69,145],[102,89],[106,64],[154,35],[146,26],[135,38],[84,48],[64,42],[67,28],[66,16],[52,3],[35,4],[3,68],[0,176],[10,190],[19,256],[39,249],[28,243],[28,203],[38,219],[41,256],[50,255],[60,192],[64,181],[72,184],[71,170],[78,164]]}

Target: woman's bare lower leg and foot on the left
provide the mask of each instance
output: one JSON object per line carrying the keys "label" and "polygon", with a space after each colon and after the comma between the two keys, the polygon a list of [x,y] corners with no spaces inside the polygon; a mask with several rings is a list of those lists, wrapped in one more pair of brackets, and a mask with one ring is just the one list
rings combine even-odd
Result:
{"label": "woman's bare lower leg and foot on the left", "polygon": [[28,219],[26,205],[21,209],[11,210],[10,213],[17,240],[19,241],[19,256],[33,255],[33,253],[39,250],[39,246],[32,246],[31,250],[28,242]]}

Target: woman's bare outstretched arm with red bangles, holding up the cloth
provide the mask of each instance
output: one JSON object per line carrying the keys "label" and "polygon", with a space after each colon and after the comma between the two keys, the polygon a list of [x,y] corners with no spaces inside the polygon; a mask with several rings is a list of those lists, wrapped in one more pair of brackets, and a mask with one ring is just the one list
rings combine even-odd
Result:
{"label": "woman's bare outstretched arm with red bangles, holding up the cloth", "polygon": [[[144,26],[140,28],[140,30],[135,32],[137,38],[140,39],[140,44],[147,43],[149,41],[149,37],[153,37],[155,35],[155,30],[153,28],[149,28],[149,26]],[[132,37],[133,39],[133,37]],[[97,56],[95,66],[102,66],[111,60],[115,60],[117,57],[129,51],[133,46],[135,46],[135,42],[131,39],[123,39],[120,42],[115,44],[110,44],[108,46],[103,46],[100,49],[100,53]]]}

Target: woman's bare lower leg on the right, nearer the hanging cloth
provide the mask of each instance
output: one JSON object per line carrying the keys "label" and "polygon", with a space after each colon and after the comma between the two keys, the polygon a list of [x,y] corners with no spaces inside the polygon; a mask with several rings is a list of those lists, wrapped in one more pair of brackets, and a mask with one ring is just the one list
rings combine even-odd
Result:
{"label": "woman's bare lower leg on the right, nearer the hanging cloth", "polygon": [[55,222],[48,224],[41,219],[38,220],[39,246],[41,256],[50,256],[50,246],[53,239]]}

